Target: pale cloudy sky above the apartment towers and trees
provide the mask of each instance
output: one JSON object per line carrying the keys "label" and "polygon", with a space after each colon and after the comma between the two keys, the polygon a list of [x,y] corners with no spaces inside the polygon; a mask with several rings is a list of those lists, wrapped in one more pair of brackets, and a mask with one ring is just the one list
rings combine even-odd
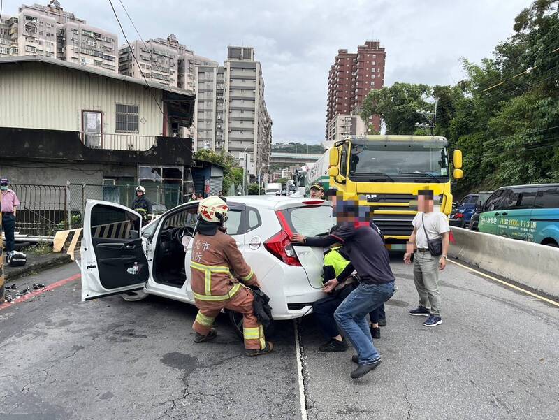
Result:
{"label": "pale cloudy sky above the apartment towers and trees", "polygon": [[[44,3],[48,0],[28,1]],[[328,70],[337,50],[378,40],[384,83],[449,85],[463,78],[460,57],[479,62],[512,33],[530,0],[112,0],[129,41],[173,33],[196,54],[222,63],[228,45],[253,46],[261,61],[273,143],[324,140]],[[88,24],[115,32],[108,0],[59,0]],[[3,0],[4,14],[22,1]]]}

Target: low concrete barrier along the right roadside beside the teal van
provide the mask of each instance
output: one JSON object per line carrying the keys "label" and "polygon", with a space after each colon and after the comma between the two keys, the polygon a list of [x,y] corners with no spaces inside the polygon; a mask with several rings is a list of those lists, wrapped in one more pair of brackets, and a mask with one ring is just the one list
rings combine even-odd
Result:
{"label": "low concrete barrier along the right roadside beside the teal van", "polygon": [[559,297],[559,248],[451,227],[449,256]]}

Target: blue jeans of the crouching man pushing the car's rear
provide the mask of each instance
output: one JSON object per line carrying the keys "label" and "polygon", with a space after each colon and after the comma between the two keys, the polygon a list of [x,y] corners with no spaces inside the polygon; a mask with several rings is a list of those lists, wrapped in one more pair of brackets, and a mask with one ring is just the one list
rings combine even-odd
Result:
{"label": "blue jeans of the crouching man pushing the car's rear", "polygon": [[356,349],[360,365],[370,365],[380,357],[372,344],[365,316],[389,300],[393,294],[393,281],[385,284],[361,283],[334,312],[337,325]]}

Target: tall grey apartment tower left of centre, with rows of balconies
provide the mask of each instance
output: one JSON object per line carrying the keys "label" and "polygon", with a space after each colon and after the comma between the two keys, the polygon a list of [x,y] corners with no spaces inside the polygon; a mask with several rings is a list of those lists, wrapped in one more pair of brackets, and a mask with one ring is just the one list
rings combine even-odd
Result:
{"label": "tall grey apartment tower left of centre, with rows of balconies", "polygon": [[225,150],[251,175],[259,175],[259,168],[270,164],[272,118],[254,48],[228,47],[224,66],[198,63],[194,73],[195,149]]}

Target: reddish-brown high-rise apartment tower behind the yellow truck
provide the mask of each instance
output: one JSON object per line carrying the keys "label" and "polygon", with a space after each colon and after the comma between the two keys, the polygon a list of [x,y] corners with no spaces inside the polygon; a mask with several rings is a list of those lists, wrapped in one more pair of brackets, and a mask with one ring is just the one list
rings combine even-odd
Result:
{"label": "reddish-brown high-rise apartment tower behind the yellow truck", "polygon": [[[358,45],[357,52],[345,49],[337,51],[334,64],[328,72],[326,140],[329,140],[329,127],[337,115],[358,113],[370,90],[382,89],[385,59],[386,52],[379,41]],[[371,118],[370,123],[375,131],[380,131],[380,118],[377,115]]]}

